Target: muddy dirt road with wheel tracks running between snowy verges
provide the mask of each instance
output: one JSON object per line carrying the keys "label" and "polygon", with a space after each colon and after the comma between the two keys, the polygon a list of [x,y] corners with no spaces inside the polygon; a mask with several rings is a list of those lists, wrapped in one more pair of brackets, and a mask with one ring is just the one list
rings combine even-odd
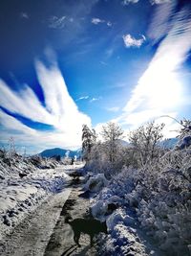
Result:
{"label": "muddy dirt road with wheel tracks running between snowy verges", "polygon": [[[75,169],[76,170],[76,169]],[[90,246],[88,235],[81,234],[81,247],[74,244],[73,219],[89,215],[89,198],[83,197],[81,181],[72,179],[60,193],[47,198],[22,221],[1,244],[2,256],[97,255],[96,243]]]}

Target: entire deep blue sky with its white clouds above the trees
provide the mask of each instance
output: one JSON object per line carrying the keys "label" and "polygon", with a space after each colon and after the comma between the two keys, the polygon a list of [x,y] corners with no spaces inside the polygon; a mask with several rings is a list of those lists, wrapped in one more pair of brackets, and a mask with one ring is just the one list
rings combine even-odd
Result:
{"label": "entire deep blue sky with its white clouds above the trees", "polygon": [[176,135],[191,117],[191,3],[0,2],[0,142],[76,149],[82,124],[126,132],[150,120]]}

